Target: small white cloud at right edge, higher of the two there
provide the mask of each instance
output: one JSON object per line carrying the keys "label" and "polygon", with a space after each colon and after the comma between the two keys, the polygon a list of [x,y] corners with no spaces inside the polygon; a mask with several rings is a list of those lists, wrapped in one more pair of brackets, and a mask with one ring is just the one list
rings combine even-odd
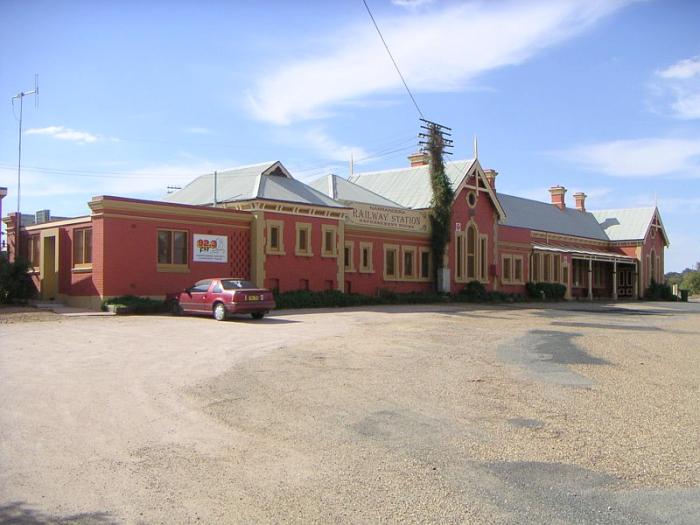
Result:
{"label": "small white cloud at right edge, higher of the two there", "polygon": [[685,120],[700,119],[700,56],[659,70],[656,78],[652,89],[665,113]]}

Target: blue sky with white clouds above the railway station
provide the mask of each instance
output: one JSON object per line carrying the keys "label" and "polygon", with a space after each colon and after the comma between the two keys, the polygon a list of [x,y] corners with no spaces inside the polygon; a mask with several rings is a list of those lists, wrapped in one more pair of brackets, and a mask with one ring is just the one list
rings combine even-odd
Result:
{"label": "blue sky with white clouds above the railway station", "polygon": [[[667,270],[700,261],[700,2],[368,0],[424,115],[500,191],[658,202]],[[0,3],[0,186],[22,211],[158,198],[281,160],[302,180],[403,166],[418,115],[361,0]]]}

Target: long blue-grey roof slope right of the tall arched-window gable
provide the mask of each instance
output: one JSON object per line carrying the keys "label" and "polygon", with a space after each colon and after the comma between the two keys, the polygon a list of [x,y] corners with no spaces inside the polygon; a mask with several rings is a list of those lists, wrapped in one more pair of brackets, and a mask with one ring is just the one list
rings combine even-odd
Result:
{"label": "long blue-grey roof slope right of the tall arched-window gable", "polygon": [[505,226],[587,237],[601,241],[608,240],[600,224],[590,212],[581,212],[575,208],[560,210],[546,202],[524,199],[505,193],[499,193],[498,200],[506,212],[506,218],[501,222]]}

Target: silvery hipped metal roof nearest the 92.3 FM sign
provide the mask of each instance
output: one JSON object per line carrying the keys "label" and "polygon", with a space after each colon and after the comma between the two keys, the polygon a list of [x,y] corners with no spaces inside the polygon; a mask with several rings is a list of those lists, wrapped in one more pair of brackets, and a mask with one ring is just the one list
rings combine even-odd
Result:
{"label": "silvery hipped metal roof nearest the 92.3 FM sign", "polygon": [[[343,207],[327,195],[293,178],[279,161],[242,166],[217,173],[217,202],[256,199]],[[197,177],[181,190],[166,195],[163,200],[179,204],[213,204],[214,174]]]}

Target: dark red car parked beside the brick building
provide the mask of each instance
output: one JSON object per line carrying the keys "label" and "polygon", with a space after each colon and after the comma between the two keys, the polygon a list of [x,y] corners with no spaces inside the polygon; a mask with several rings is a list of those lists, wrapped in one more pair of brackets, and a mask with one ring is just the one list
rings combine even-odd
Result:
{"label": "dark red car parked beside the brick building", "polygon": [[235,277],[203,279],[175,295],[175,314],[213,315],[224,321],[231,314],[250,314],[253,319],[275,307],[272,292],[258,288],[250,281]]}

